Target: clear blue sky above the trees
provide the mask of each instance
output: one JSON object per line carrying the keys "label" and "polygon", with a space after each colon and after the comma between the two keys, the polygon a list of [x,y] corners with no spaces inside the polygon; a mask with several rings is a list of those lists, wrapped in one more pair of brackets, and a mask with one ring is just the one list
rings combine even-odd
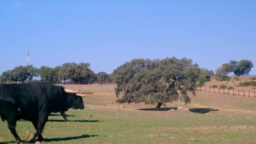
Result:
{"label": "clear blue sky above the trees", "polygon": [[89,62],[112,73],[134,58],[191,58],[213,70],[248,59],[256,1],[0,1],[0,74],[18,65]]}

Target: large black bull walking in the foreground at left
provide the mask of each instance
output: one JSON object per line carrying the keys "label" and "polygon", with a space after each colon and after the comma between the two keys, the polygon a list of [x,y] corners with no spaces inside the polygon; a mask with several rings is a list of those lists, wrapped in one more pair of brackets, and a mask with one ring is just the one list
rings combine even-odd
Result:
{"label": "large black bull walking in the foreground at left", "polygon": [[83,109],[82,97],[74,93],[65,92],[61,86],[51,83],[25,83],[25,84],[1,84],[0,86],[0,116],[7,120],[8,128],[16,139],[22,144],[15,126],[19,119],[33,123],[36,133],[27,141],[31,141],[41,135],[48,116],[52,112],[67,111],[68,108]]}

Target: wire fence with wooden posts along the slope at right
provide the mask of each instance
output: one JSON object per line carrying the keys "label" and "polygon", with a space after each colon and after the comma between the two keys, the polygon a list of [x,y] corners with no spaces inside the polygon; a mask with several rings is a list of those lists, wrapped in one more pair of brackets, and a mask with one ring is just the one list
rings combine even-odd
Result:
{"label": "wire fence with wooden posts along the slope at right", "polygon": [[246,97],[254,97],[255,98],[255,90],[236,90],[236,89],[220,89],[220,88],[213,88],[211,86],[202,86],[197,87],[197,91],[201,92],[209,92],[209,93],[218,93],[224,95],[237,95],[237,96],[246,96]]}

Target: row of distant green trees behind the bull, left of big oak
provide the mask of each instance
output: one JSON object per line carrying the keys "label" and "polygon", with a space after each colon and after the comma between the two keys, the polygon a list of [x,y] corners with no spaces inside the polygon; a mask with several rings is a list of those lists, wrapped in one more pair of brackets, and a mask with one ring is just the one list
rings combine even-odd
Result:
{"label": "row of distant green trees behind the bull, left of big oak", "polygon": [[[64,63],[62,66],[54,68],[42,66],[40,68],[29,66],[18,66],[12,70],[4,71],[0,76],[0,82],[51,82],[51,83],[76,83],[76,84],[109,84],[113,83],[110,75],[106,72],[94,73],[89,63]],[[40,80],[33,80],[35,77],[41,77]]]}

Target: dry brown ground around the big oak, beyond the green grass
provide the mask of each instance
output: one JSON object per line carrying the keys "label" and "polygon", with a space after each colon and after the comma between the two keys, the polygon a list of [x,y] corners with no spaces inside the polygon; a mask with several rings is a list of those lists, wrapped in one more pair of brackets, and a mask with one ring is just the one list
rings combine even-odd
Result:
{"label": "dry brown ground around the big oak, beyond the green grass", "polygon": [[[117,103],[114,89],[116,85],[63,85],[65,88],[90,91],[92,95],[85,98],[85,106],[94,109],[118,109],[118,110],[143,110],[155,113],[156,105],[144,103]],[[176,110],[182,106],[190,111],[207,114],[229,114],[229,113],[251,113],[256,114],[256,98],[223,95],[217,93],[205,93],[198,91],[196,96],[191,96],[192,102],[184,104],[182,102],[167,103],[162,106],[162,111]],[[242,104],[241,104],[242,103]],[[165,115],[164,113],[161,113]]]}

